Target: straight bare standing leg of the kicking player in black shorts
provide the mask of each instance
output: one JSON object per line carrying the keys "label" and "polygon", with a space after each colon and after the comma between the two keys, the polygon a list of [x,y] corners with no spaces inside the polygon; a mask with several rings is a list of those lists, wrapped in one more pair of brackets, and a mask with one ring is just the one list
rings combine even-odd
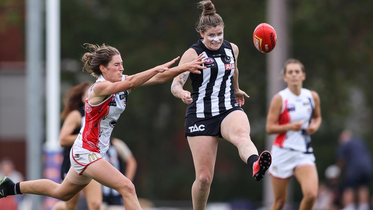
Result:
{"label": "straight bare standing leg of the kicking player in black shorts", "polygon": [[214,175],[217,142],[217,136],[188,136],[195,168],[195,181],[192,186],[194,210],[204,210],[206,207]]}

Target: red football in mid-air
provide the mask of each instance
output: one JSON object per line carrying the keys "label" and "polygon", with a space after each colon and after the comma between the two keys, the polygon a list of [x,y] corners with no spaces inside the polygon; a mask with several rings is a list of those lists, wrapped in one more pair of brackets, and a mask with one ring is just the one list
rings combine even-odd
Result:
{"label": "red football in mid-air", "polygon": [[253,41],[256,49],[262,53],[269,53],[276,46],[276,31],[271,25],[261,23],[254,30]]}

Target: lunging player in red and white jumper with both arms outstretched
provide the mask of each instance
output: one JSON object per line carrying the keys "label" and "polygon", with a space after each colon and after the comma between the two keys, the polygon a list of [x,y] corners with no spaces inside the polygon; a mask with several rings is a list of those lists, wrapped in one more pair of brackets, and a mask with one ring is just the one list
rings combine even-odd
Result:
{"label": "lunging player in red and white jumper with both arms outstretched", "polygon": [[110,134],[126,106],[127,95],[139,86],[166,82],[181,72],[200,73],[202,55],[188,64],[169,67],[178,59],[131,76],[122,75],[123,62],[115,47],[85,44],[90,52],[83,55],[84,70],[97,77],[88,90],[85,124],[70,152],[70,168],[61,184],[48,179],[14,183],[9,177],[0,181],[0,198],[15,194],[45,195],[68,201],[92,179],[113,188],[122,196],[126,210],[141,209],[131,180],[103,158],[109,146]]}

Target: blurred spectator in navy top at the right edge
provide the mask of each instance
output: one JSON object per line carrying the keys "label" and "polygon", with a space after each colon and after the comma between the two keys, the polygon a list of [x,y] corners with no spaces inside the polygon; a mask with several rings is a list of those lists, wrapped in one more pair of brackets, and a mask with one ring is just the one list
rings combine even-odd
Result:
{"label": "blurred spectator in navy top at the right edge", "polygon": [[372,176],[372,159],[366,143],[344,130],[339,136],[338,166],[344,173],[342,204],[344,210],[355,208],[357,195],[358,210],[369,210],[368,184]]}

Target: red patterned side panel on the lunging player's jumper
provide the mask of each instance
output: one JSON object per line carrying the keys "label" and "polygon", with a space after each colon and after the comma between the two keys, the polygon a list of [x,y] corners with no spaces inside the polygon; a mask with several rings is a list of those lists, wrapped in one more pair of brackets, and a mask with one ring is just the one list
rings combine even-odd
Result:
{"label": "red patterned side panel on the lunging player's jumper", "polygon": [[[101,120],[109,114],[109,103],[114,98],[114,94],[105,100],[104,103],[98,106],[91,106],[88,99],[85,103],[85,126],[82,133],[82,148],[88,149],[91,152],[100,153],[98,142],[101,135]],[[89,112],[88,112],[89,111]]]}

